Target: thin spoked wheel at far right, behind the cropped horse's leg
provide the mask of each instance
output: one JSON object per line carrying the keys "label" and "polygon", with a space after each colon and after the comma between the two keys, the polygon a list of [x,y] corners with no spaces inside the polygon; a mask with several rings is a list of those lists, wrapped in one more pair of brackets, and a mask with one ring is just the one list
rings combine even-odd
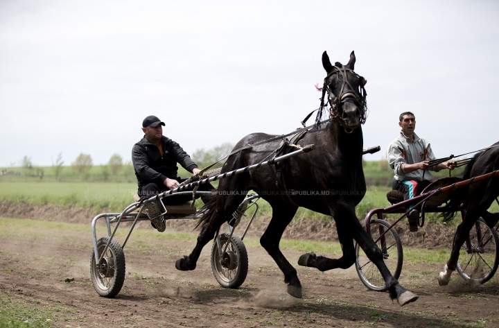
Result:
{"label": "thin spoked wheel at far right, behind the cropped horse's leg", "polygon": [[469,282],[488,282],[498,268],[499,237],[482,218],[471,228],[469,239],[459,250],[457,272]]}

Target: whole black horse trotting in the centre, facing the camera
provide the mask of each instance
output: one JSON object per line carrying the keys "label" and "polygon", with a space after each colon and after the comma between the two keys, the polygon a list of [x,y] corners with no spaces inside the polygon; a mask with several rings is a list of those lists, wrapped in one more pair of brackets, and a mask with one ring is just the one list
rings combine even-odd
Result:
{"label": "whole black horse trotting in the centre, facing the camera", "polygon": [[[392,300],[396,298],[401,306],[417,300],[417,295],[400,286],[389,273],[382,252],[362,229],[356,217],[355,207],[366,191],[362,171],[361,124],[366,119],[367,107],[364,89],[366,81],[353,71],[355,62],[356,57],[352,51],[347,65],[336,62],[333,66],[324,51],[322,65],[327,76],[324,79],[322,104],[316,119],[318,128],[310,130],[299,141],[302,145],[315,144],[315,150],[286,159],[278,169],[265,166],[236,175],[234,178],[220,180],[216,200],[207,205],[209,213],[200,222],[202,231],[198,236],[198,243],[189,257],[177,260],[175,267],[178,270],[195,269],[204,245],[213,239],[222,223],[231,219],[245,197],[245,192],[254,190],[272,207],[272,220],[261,236],[260,243],[281,268],[290,295],[301,297],[301,284],[297,271],[279,250],[279,241],[301,206],[333,216],[343,256],[340,259],[328,259],[308,253],[299,258],[299,265],[315,267],[322,271],[349,268],[356,260],[353,245],[355,239],[369,259],[378,266]],[[324,105],[326,93],[329,107]],[[322,110],[329,110],[330,119],[321,126],[318,122]],[[276,136],[254,133],[240,140],[235,148],[274,137]],[[243,150],[232,155],[222,166],[222,173],[261,162],[278,148],[280,142],[263,143],[254,146],[252,150]],[[281,183],[276,182],[277,171],[283,176]],[[283,192],[288,190],[294,192]]]}

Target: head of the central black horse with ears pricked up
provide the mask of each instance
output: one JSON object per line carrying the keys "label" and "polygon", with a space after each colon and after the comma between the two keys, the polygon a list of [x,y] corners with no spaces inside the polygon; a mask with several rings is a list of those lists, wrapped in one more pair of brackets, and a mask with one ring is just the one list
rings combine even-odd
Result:
{"label": "head of the central black horse with ears pricked up", "polygon": [[322,66],[327,76],[324,78],[321,107],[327,105],[324,104],[324,96],[327,92],[331,117],[338,119],[347,132],[358,128],[365,122],[367,116],[367,92],[364,88],[367,80],[353,71],[355,62],[356,57],[353,51],[346,65],[335,62],[333,66],[326,51],[322,54]]}

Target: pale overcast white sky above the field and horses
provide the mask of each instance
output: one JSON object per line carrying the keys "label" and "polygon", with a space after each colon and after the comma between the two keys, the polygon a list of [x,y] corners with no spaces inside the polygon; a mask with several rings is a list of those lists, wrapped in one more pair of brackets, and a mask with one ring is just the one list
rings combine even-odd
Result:
{"label": "pale overcast white sky above the field and horses", "polygon": [[[130,160],[154,114],[188,153],[284,134],[321,55],[367,78],[365,146],[401,112],[444,157],[499,140],[498,1],[0,1],[0,167]],[[310,120],[312,121],[312,120]],[[368,157],[369,156],[369,157]]]}

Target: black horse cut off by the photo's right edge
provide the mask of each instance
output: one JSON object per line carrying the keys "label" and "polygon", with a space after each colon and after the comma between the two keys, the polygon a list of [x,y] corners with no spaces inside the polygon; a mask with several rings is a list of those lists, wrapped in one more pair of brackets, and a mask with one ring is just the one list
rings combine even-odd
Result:
{"label": "black horse cut off by the photo's right edge", "polygon": [[[468,180],[478,175],[484,175],[499,170],[499,142],[491,148],[476,154],[466,165],[463,173],[459,175],[462,180]],[[452,219],[453,211],[458,205],[463,205],[465,212],[462,223],[457,227],[454,236],[452,252],[447,261],[444,271],[439,274],[439,284],[448,284],[450,275],[457,266],[459,249],[469,236],[469,232],[475,222],[482,216],[489,225],[493,227],[498,223],[499,214],[490,214],[487,209],[492,202],[499,197],[499,177],[483,180],[470,184],[468,187],[457,189],[449,200],[450,211],[444,214],[444,218]]]}

